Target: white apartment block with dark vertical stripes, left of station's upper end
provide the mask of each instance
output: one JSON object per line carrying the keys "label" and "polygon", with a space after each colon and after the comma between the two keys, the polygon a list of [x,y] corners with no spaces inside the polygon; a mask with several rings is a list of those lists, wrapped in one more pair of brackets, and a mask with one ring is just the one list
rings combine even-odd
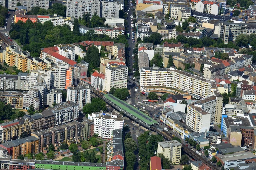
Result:
{"label": "white apartment block with dark vertical stripes, left of station's upper end", "polygon": [[78,104],[78,109],[82,109],[87,103],[91,103],[90,86],[69,87],[67,89],[67,101]]}

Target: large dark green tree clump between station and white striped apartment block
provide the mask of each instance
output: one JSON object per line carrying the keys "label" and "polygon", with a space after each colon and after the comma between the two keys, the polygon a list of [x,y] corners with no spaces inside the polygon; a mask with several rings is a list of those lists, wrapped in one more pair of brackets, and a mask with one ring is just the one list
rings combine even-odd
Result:
{"label": "large dark green tree clump between station and white striped apartment block", "polygon": [[88,117],[88,114],[99,112],[101,110],[107,110],[106,102],[101,98],[92,98],[91,103],[88,103],[83,107],[83,113],[86,114],[86,117]]}

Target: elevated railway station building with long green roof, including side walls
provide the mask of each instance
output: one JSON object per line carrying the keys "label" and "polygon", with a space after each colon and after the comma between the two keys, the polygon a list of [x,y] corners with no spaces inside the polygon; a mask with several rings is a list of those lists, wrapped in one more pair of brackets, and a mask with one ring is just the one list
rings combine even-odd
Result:
{"label": "elevated railway station building with long green roof, including side walls", "polygon": [[145,113],[141,112],[140,110],[134,108],[130,104],[118,99],[117,97],[113,96],[112,94],[104,94],[103,99],[114,106],[119,111],[124,112],[124,114],[131,119],[135,120],[136,122],[146,126],[151,127],[154,124],[158,124],[157,121],[152,119],[151,117],[147,116]]}

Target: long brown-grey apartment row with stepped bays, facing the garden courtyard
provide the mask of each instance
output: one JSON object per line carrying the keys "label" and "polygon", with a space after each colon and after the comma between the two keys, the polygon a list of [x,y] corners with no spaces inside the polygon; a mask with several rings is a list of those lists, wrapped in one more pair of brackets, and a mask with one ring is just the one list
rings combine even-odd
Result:
{"label": "long brown-grey apartment row with stepped bays, facing the garden courtyard", "polygon": [[38,138],[39,149],[43,151],[48,148],[49,144],[59,146],[65,142],[70,145],[79,142],[80,139],[86,140],[93,135],[93,126],[94,123],[91,120],[83,122],[74,120],[63,125],[33,132],[31,136]]}

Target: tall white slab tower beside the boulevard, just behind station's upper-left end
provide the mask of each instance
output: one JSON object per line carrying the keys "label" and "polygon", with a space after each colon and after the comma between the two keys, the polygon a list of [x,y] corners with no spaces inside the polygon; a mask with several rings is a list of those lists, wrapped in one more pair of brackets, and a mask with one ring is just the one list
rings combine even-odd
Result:
{"label": "tall white slab tower beside the boulevard, just behind station's upper-left end", "polygon": [[128,67],[124,65],[110,65],[105,70],[104,91],[109,92],[111,87],[127,88]]}

